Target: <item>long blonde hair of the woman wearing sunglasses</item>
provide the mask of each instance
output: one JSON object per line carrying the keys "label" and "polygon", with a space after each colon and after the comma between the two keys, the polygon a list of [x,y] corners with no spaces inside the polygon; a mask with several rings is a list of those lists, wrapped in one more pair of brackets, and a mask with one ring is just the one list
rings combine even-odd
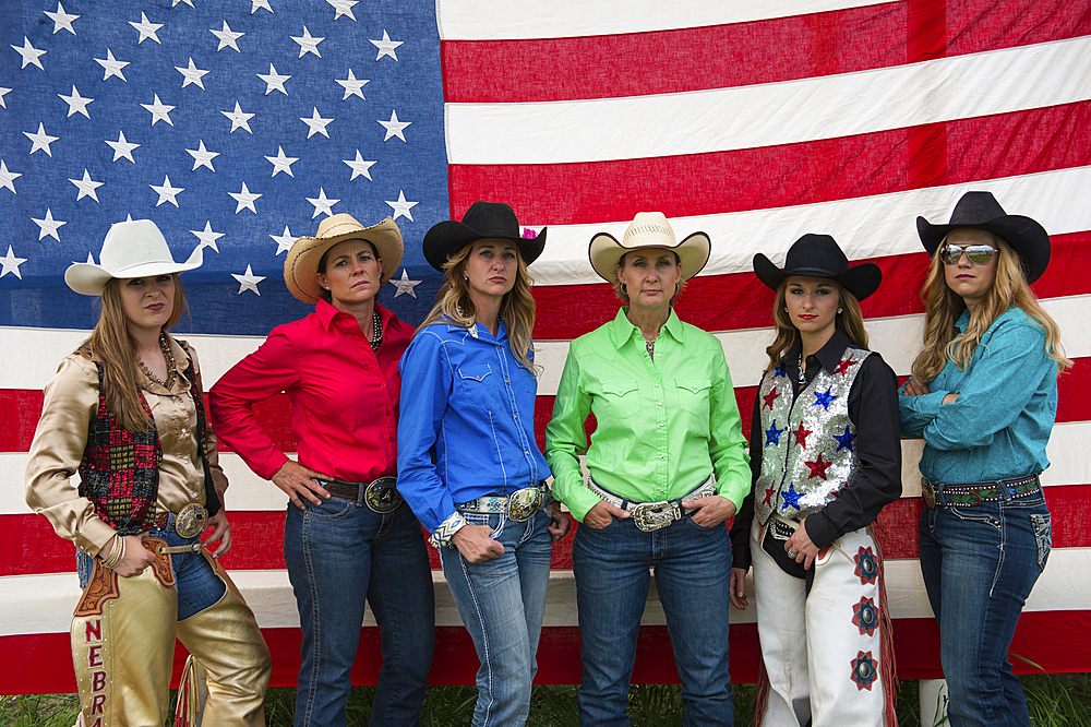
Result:
{"label": "long blonde hair of the woman wearing sunglasses", "polygon": [[966,302],[947,286],[944,263],[939,260],[939,251],[944,249],[946,237],[936,248],[936,254],[932,255],[928,276],[921,290],[925,310],[924,348],[913,361],[913,378],[932,382],[947,361],[954,361],[959,369],[964,370],[988,326],[1011,306],[1021,309],[1045,332],[1045,353],[1057,362],[1057,376],[1060,376],[1072,362],[1065,358],[1057,322],[1045,312],[1034,291],[1027,285],[1019,255],[1002,238],[982,231],[992,238],[993,246],[999,251],[996,278],[981,302],[970,311],[970,323],[966,326],[966,332],[959,335],[955,335],[955,323],[966,310]]}

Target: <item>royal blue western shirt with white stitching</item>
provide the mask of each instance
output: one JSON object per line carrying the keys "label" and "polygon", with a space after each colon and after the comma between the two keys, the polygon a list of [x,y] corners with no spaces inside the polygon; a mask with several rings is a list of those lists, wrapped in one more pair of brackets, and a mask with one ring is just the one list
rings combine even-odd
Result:
{"label": "royal blue western shirt with white stitching", "polygon": [[500,322],[422,329],[401,357],[398,491],[433,532],[456,502],[511,493],[550,476],[535,443],[538,380]]}

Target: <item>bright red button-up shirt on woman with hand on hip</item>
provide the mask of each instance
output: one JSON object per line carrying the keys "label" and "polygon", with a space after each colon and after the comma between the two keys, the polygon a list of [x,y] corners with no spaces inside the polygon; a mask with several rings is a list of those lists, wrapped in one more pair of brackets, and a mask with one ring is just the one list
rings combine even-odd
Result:
{"label": "bright red button-up shirt on woman with hand on hip", "polygon": [[208,392],[216,437],[269,479],[288,457],[253,415],[281,391],[295,413],[299,462],[324,475],[368,482],[397,474],[398,360],[413,330],[382,306],[383,343],[371,349],[356,318],[320,300],[314,312],[273,329]]}

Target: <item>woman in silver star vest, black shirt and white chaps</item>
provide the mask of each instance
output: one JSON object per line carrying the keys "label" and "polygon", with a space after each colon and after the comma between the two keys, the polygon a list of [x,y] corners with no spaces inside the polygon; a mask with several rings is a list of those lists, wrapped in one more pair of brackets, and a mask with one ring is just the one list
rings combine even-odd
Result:
{"label": "woman in silver star vest, black shirt and white chaps", "polygon": [[753,561],[762,727],[890,727],[894,648],[872,524],[901,496],[898,382],[867,349],[859,301],[874,263],[850,267],[828,235],[804,235],[777,291],[777,338],[754,403],[754,487],[731,528],[731,603],[745,609]]}

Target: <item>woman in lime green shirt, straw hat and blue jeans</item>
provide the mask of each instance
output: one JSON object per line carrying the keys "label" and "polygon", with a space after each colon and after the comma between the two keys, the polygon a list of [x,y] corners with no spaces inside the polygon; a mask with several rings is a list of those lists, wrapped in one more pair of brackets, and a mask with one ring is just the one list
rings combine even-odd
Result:
{"label": "woman in lime green shirt, straw hat and blue jeans", "polygon": [[[591,239],[591,266],[627,305],[572,343],[546,430],[553,494],[582,524],[572,560],[584,727],[628,725],[651,569],[687,724],[733,724],[723,522],[750,489],[746,442],[720,342],[672,308],[708,253],[707,235],[676,242],[659,212],[636,215],[621,241],[606,233]],[[590,448],[589,414],[597,421]]]}

